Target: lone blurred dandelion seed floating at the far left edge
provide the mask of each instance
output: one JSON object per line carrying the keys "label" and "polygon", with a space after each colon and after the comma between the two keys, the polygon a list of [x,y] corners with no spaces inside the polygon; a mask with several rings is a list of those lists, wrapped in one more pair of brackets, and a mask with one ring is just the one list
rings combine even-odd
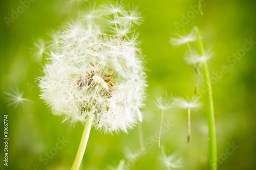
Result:
{"label": "lone blurred dandelion seed floating at the far left edge", "polygon": [[23,91],[19,91],[17,88],[4,91],[4,93],[6,94],[5,100],[8,103],[7,106],[12,107],[13,109],[18,107],[23,109],[26,102],[32,102],[26,98],[23,98]]}

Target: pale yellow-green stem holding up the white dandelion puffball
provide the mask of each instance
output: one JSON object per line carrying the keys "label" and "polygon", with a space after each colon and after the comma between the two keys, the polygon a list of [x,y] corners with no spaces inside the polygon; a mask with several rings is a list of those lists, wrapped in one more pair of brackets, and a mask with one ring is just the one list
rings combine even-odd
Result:
{"label": "pale yellow-green stem holding up the white dandelion puffball", "polygon": [[89,139],[92,122],[93,122],[93,115],[88,115],[88,117],[86,119],[86,125],[84,126],[84,129],[83,129],[82,138],[81,138],[81,141],[79,144],[79,148],[76,153],[76,157],[75,157],[74,163],[71,167],[71,170],[78,170],[80,167],[84,151],[86,151],[86,145],[87,145],[87,142]]}

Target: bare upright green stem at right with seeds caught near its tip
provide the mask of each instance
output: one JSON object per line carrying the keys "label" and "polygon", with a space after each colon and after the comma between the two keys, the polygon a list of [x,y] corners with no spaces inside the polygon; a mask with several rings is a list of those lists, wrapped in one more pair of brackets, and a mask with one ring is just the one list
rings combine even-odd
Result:
{"label": "bare upright green stem at right with seeds caught near its tip", "polygon": [[[201,56],[204,55],[204,47],[201,40],[200,32],[197,27],[195,27],[198,38],[198,48]],[[216,130],[215,130],[215,116],[214,116],[214,102],[212,100],[212,91],[210,84],[210,76],[208,71],[207,62],[203,61],[203,75],[204,75],[204,84],[206,90],[207,98],[207,119],[208,119],[208,128],[209,128],[209,148],[210,148],[210,169],[217,169],[217,144],[216,144]]]}

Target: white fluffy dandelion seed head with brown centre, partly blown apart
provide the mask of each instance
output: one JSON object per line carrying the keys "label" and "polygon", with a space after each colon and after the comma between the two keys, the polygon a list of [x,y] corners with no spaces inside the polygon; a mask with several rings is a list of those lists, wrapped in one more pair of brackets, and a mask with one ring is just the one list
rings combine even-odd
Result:
{"label": "white fluffy dandelion seed head with brown centre, partly blown apart", "polygon": [[39,86],[53,114],[73,123],[94,115],[96,129],[105,133],[127,132],[142,121],[147,85],[134,33],[139,14],[136,7],[108,4],[51,34]]}

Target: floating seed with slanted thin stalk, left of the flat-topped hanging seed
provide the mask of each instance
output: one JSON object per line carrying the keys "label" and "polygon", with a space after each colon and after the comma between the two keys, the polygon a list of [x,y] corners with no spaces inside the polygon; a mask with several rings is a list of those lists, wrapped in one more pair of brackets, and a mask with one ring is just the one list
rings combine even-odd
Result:
{"label": "floating seed with slanted thin stalk, left of the flat-topped hanging seed", "polygon": [[167,95],[167,93],[165,98],[163,98],[161,95],[158,95],[156,98],[155,105],[157,108],[162,110],[161,124],[160,124],[159,137],[158,137],[158,148],[160,148],[160,137],[161,137],[162,123],[163,123],[163,111],[172,107],[171,98]]}

